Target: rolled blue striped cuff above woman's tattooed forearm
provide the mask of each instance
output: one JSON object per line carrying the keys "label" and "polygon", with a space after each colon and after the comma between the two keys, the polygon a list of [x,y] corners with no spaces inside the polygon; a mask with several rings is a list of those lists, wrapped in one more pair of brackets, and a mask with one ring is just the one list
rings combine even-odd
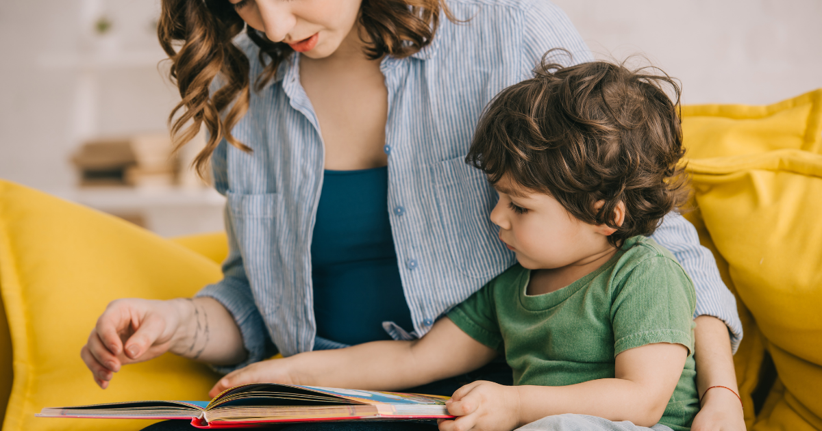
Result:
{"label": "rolled blue striped cuff above woman's tattooed forearm", "polygon": [[225,277],[219,282],[204,287],[197,292],[196,297],[214,298],[229,310],[240,329],[242,343],[248,352],[246,360],[237,365],[211,365],[216,372],[229,374],[235,369],[241,369],[275,355],[276,350],[268,337],[266,324],[263,322],[246,283]]}

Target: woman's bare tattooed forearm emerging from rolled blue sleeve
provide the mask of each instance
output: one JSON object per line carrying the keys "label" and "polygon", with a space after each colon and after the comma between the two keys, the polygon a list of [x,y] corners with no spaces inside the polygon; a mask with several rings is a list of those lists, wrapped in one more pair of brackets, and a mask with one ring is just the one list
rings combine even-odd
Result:
{"label": "woman's bare tattooed forearm emerging from rolled blue sleeve", "polygon": [[238,364],[248,352],[242,334],[228,309],[213,298],[179,298],[173,300],[180,323],[169,349],[214,365]]}

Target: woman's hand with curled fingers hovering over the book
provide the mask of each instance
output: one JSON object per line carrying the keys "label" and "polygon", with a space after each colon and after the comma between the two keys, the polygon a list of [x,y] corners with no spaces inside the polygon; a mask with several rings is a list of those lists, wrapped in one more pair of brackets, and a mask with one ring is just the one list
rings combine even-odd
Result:
{"label": "woman's hand with curled fingers hovering over the book", "polygon": [[[122,365],[153,359],[173,346],[187,300],[114,300],[91,330],[80,356],[99,387]],[[191,309],[188,305],[188,309]]]}

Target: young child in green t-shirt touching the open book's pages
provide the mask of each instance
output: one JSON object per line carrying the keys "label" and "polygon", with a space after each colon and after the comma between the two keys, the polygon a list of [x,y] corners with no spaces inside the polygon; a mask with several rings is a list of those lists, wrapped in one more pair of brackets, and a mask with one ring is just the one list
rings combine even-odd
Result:
{"label": "young child in green t-shirt touching the open book's pages", "polygon": [[467,161],[499,192],[491,220],[519,264],[418,341],[294,355],[266,380],[401,390],[505,355],[515,386],[459,388],[442,431],[689,429],[695,292],[646,237],[681,203],[678,98],[667,76],[607,62],[503,90]]}

